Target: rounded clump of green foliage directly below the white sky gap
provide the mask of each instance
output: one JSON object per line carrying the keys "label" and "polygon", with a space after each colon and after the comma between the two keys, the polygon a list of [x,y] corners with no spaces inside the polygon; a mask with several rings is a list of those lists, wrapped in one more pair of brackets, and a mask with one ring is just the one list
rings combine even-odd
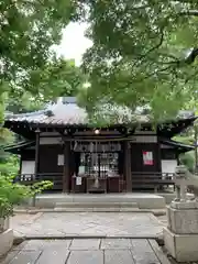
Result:
{"label": "rounded clump of green foliage directly below the white sky gap", "polygon": [[74,61],[54,57],[43,68],[32,70],[31,84],[36,84],[35,98],[54,99],[61,96],[74,96],[84,82],[81,70]]}

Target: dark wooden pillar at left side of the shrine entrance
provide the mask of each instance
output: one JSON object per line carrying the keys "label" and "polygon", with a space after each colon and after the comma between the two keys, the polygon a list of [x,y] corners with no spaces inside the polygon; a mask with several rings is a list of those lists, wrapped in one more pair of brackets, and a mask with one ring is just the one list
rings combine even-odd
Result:
{"label": "dark wooden pillar at left side of the shrine entrance", "polygon": [[70,186],[70,143],[64,142],[63,193],[69,193]]}

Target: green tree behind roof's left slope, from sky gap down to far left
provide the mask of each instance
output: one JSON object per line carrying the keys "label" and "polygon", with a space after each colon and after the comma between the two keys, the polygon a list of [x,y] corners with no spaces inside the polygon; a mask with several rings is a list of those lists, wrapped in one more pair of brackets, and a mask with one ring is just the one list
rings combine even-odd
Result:
{"label": "green tree behind roof's left slope, from sky gap down to far left", "polygon": [[18,90],[7,99],[7,111],[13,113],[41,110],[48,100],[61,96],[76,96],[85,81],[79,67],[73,59],[51,58],[46,64],[30,74],[34,92]]}

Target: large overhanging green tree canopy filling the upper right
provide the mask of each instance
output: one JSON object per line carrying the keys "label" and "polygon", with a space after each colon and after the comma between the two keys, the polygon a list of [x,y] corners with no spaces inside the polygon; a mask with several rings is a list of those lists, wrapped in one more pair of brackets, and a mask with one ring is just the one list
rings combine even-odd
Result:
{"label": "large overhanging green tree canopy filling the upper right", "polygon": [[197,98],[197,1],[86,0],[79,6],[94,42],[84,56],[91,84],[87,103],[150,106],[160,118]]}

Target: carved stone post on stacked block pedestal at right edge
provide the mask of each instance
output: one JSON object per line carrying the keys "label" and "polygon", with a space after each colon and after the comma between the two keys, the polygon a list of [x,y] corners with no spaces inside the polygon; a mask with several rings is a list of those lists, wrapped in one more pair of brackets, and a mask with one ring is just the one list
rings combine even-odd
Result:
{"label": "carved stone post on stacked block pedestal at right edge", "polygon": [[198,261],[198,201],[186,197],[190,180],[185,177],[185,169],[184,166],[176,168],[175,183],[180,194],[167,206],[168,226],[164,228],[164,243],[177,262],[194,262]]}

